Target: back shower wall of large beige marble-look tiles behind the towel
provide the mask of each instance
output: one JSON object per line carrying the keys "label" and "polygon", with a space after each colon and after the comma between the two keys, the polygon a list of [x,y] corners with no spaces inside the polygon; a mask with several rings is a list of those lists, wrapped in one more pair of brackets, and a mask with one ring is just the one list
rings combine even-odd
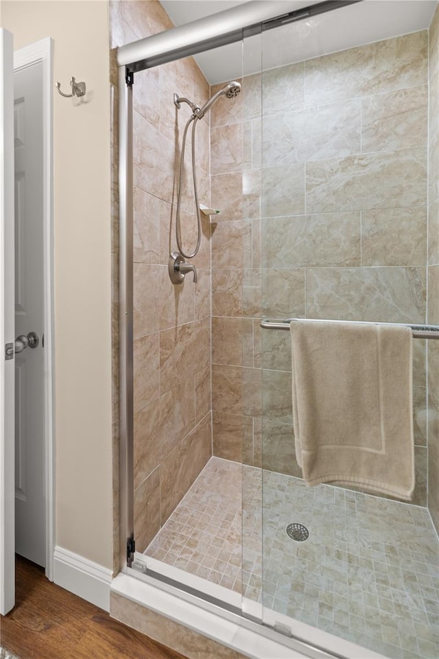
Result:
{"label": "back shower wall of large beige marble-look tiles behind the towel", "polygon": [[[289,335],[262,331],[262,315],[425,323],[428,62],[424,30],[248,76],[237,99],[213,106],[215,455],[259,465],[263,454],[264,467],[300,476]],[[414,347],[420,505],[424,344]]]}

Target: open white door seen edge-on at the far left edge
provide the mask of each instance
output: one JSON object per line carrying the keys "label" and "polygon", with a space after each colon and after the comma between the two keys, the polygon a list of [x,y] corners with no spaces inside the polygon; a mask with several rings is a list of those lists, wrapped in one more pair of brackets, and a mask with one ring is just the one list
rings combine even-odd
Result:
{"label": "open white door seen edge-on at the far left edge", "polygon": [[0,613],[3,615],[8,613],[15,603],[13,163],[12,34],[7,30],[0,30]]}

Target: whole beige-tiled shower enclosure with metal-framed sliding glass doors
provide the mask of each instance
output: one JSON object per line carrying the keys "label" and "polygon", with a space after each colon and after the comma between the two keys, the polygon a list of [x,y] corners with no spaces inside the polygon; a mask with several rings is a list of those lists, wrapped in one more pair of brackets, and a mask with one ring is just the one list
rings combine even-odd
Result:
{"label": "whole beige-tiled shower enclosure with metal-framed sliding glass doors", "polygon": [[[113,32],[123,36],[115,45],[144,36],[132,32],[138,3],[116,4]],[[161,60],[154,41],[153,67],[119,68],[121,127],[128,117],[121,547],[128,536],[133,578],[152,575],[259,621],[306,656],[315,656],[311,647],[343,657],[364,648],[368,657],[432,659],[439,342],[414,338],[416,487],[407,504],[305,485],[294,452],[291,339],[270,325],[439,323],[436,3],[416,3],[424,23],[404,33],[361,43],[346,34],[328,45],[340,21],[370,19],[371,4],[322,3],[316,16],[284,16],[271,30],[252,25],[239,69],[210,86],[191,57]],[[149,25],[169,29],[158,3],[148,5]],[[202,107],[233,79],[241,93],[219,98],[197,127],[199,201],[220,213],[201,216],[197,283],[190,276],[176,286],[167,264],[193,108],[177,111],[174,94]],[[189,174],[180,222],[190,251]]]}

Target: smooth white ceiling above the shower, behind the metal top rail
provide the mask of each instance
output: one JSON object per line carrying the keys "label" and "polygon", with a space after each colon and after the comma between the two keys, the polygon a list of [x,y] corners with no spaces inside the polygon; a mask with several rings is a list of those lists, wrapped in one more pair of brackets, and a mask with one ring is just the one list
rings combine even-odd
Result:
{"label": "smooth white ceiling above the shower, behind the metal top rail", "polygon": [[[245,0],[161,0],[184,25]],[[310,2],[311,4],[311,2]],[[437,0],[362,0],[195,56],[210,84],[429,27]],[[262,53],[262,55],[261,55]]]}

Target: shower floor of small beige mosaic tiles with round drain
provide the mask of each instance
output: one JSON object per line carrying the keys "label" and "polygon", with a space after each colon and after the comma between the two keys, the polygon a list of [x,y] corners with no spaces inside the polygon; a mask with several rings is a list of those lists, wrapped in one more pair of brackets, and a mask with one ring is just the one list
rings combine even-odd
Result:
{"label": "shower floor of small beige mosaic tiles with round drain", "polygon": [[[291,540],[290,522],[308,540]],[[390,659],[439,657],[439,544],[424,508],[214,457],[145,554]]]}

